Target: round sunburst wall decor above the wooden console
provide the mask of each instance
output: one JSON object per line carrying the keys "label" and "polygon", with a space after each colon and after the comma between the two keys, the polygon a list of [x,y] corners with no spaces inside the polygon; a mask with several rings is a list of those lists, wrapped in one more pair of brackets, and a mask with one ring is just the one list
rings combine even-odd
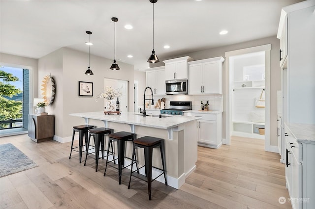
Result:
{"label": "round sunburst wall decor above the wooden console", "polygon": [[41,95],[43,95],[46,106],[52,104],[55,100],[56,86],[55,80],[50,75],[45,75],[41,84]]}

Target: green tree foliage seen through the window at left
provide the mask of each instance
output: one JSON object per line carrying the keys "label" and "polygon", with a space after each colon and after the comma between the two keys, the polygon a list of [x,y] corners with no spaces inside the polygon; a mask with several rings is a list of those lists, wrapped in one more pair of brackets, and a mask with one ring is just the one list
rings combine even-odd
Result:
{"label": "green tree foliage seen through the window at left", "polygon": [[[4,98],[4,96],[12,98],[22,92],[21,89],[17,89],[9,83],[9,81],[19,80],[13,74],[0,70],[0,121],[22,118],[22,102]],[[0,124],[1,129],[6,126],[6,124]]]}

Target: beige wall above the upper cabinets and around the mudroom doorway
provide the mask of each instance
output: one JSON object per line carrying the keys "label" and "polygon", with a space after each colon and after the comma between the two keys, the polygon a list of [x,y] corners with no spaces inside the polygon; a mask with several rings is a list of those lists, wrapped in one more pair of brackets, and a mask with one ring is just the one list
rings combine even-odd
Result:
{"label": "beige wall above the upper cabinets and around the mudroom doorway", "polygon": [[[271,44],[270,51],[270,145],[278,146],[277,137],[277,91],[281,89],[281,71],[279,67],[279,49],[280,41],[275,36],[266,37],[262,39],[252,40],[244,43],[233,44],[229,46],[218,47],[198,52],[189,52],[171,57],[159,57],[160,60],[173,59],[177,57],[190,56],[194,60],[207,59],[211,57],[224,57],[225,52],[230,52],[239,49],[245,49],[255,46]],[[150,64],[150,67],[163,66],[163,62]],[[223,69],[225,69],[225,61],[223,62]],[[223,70],[223,92],[225,92],[225,71]],[[223,101],[223,107],[225,106]],[[223,138],[225,138],[225,115],[223,109]]]}

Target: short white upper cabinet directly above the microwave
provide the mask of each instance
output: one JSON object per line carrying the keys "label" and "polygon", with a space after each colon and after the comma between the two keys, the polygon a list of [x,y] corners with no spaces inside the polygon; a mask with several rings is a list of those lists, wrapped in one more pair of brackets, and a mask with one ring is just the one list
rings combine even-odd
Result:
{"label": "short white upper cabinet directly above the microwave", "polygon": [[193,59],[189,56],[164,60],[165,63],[165,80],[187,79],[188,62]]}

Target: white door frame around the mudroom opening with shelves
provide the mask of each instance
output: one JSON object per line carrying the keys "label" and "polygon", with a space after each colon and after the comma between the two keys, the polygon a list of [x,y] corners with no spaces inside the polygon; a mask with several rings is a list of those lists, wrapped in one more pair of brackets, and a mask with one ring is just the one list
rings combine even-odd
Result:
{"label": "white door frame around the mudroom opening with shelves", "polygon": [[[264,117],[265,117],[265,123],[264,123],[264,138],[265,138],[265,150],[270,150],[270,50],[271,45],[262,45],[252,48],[246,48],[231,52],[225,52],[225,140],[224,144],[231,144],[231,136],[233,133],[233,89],[234,89],[234,65],[233,65],[233,59],[235,56],[240,56],[244,54],[250,54],[250,53],[258,53],[258,52],[264,52],[264,94],[265,94],[265,108],[264,108]],[[234,57],[234,58],[233,58]],[[249,78],[243,75],[243,82],[244,78]],[[244,83],[245,84],[245,83]],[[240,87],[242,87],[243,83]],[[246,84],[245,84],[246,85]],[[260,85],[260,84],[259,84]],[[247,127],[248,128],[248,127]],[[253,126],[251,126],[251,130],[253,129]]]}

